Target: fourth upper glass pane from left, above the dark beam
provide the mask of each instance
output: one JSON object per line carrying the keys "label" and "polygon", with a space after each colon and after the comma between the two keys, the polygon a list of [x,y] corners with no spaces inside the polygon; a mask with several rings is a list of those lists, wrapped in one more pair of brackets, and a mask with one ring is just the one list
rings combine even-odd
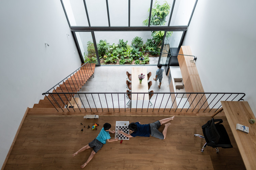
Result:
{"label": "fourth upper glass pane from left, above the dark beam", "polygon": [[148,19],[151,0],[131,0],[130,26],[145,26],[143,21]]}

